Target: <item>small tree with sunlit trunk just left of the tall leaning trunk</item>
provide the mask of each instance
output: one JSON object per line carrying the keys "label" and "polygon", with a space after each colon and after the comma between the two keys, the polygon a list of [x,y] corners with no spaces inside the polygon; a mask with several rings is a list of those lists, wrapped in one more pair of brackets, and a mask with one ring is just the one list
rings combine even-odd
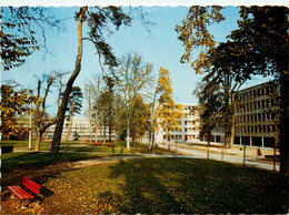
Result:
{"label": "small tree with sunlit trunk just left of the tall leaning trunk", "polygon": [[[49,92],[51,90],[51,86],[56,85],[57,81],[59,80],[59,83],[61,83],[61,79],[63,78],[66,73],[61,72],[51,72],[50,74],[43,74],[42,79],[38,79],[38,86],[37,86],[37,102],[36,102],[36,110],[34,110],[34,124],[37,130],[37,144],[34,147],[34,151],[40,151],[40,144],[41,144],[41,136],[46,132],[48,127],[50,127],[52,124],[56,123],[56,117],[50,117],[47,113],[47,98],[49,95]],[[41,89],[44,85],[44,93],[41,93]],[[59,86],[59,93],[60,96],[61,93],[61,86]],[[59,98],[58,98],[59,100]]]}

